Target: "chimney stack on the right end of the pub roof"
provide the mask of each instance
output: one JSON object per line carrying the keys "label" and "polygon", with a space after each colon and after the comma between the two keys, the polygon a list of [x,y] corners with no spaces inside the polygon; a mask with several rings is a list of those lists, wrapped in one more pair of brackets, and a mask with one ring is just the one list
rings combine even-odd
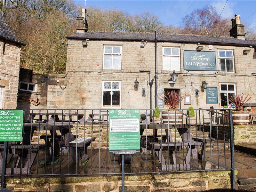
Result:
{"label": "chimney stack on the right end of the pub roof", "polygon": [[235,15],[235,19],[231,19],[231,22],[230,36],[237,39],[244,39],[244,25],[240,23],[240,15]]}

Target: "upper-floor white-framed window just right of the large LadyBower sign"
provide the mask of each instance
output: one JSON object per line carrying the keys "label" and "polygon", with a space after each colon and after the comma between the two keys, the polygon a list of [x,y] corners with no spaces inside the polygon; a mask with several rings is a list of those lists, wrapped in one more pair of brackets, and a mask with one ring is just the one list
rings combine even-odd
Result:
{"label": "upper-floor white-framed window just right of the large LadyBower sign", "polygon": [[220,71],[235,72],[232,50],[218,50]]}

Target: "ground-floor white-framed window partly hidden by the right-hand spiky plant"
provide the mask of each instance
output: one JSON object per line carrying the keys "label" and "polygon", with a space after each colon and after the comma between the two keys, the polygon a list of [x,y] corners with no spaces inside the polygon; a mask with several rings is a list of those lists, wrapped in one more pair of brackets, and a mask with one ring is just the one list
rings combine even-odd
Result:
{"label": "ground-floor white-framed window partly hidden by the right-hand spiky plant", "polygon": [[220,106],[231,107],[231,102],[228,99],[230,95],[236,94],[236,84],[234,83],[220,83]]}

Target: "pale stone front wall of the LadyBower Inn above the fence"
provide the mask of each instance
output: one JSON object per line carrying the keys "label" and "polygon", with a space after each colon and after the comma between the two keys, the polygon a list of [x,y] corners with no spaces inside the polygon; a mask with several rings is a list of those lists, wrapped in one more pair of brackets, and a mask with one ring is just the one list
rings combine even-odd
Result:
{"label": "pale stone front wall of the LadyBower Inn above the fence", "polygon": [[[103,46],[122,45],[122,69],[105,70],[103,68]],[[208,45],[201,44],[208,50]],[[176,71],[179,74],[177,82],[170,85],[168,79],[172,71],[162,70],[162,47],[180,47],[180,68]],[[183,50],[196,50],[197,44],[175,44],[158,43],[158,88],[180,89],[181,94],[191,94],[191,105],[184,105],[181,108],[220,108],[220,83],[235,83],[237,93],[252,95],[250,102],[256,102],[253,95],[256,92],[254,76],[228,75],[251,75],[254,71],[256,52],[252,51],[243,54],[246,47],[231,47],[214,45],[212,51],[216,52],[218,61],[218,49],[234,50],[235,73],[207,72],[207,71],[184,71]],[[62,90],[58,86],[48,86],[48,108],[102,108],[102,81],[121,81],[121,108],[150,108],[149,74],[141,73],[140,70],[150,70],[151,79],[155,72],[155,47],[154,43],[148,42],[144,48],[140,48],[140,42],[108,42],[89,40],[87,47],[82,47],[81,41],[70,40],[67,53],[67,87]],[[97,66],[99,65],[99,66]],[[219,68],[217,68],[219,70]],[[109,72],[109,74],[106,74]],[[187,73],[188,72],[188,73]],[[225,75],[225,76],[224,76]],[[138,91],[134,91],[134,81],[138,79]],[[218,87],[219,104],[206,104],[206,93],[201,91],[202,81],[206,80],[208,86]],[[146,82],[145,82],[146,81]],[[142,97],[141,89],[146,89],[146,97]],[[155,106],[155,84],[152,86],[152,106]],[[195,97],[195,89],[199,89],[199,97]],[[56,97],[58,94],[58,97]]]}

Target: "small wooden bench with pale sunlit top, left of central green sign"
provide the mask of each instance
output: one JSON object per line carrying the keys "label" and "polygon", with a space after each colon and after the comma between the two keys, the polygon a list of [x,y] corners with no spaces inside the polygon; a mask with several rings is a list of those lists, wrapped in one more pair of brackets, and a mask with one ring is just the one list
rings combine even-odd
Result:
{"label": "small wooden bench with pale sunlit top, left of central green sign", "polygon": [[82,137],[69,142],[70,148],[77,148],[76,157],[72,156],[73,162],[81,165],[88,160],[87,148],[92,141],[95,141],[96,137]]}

